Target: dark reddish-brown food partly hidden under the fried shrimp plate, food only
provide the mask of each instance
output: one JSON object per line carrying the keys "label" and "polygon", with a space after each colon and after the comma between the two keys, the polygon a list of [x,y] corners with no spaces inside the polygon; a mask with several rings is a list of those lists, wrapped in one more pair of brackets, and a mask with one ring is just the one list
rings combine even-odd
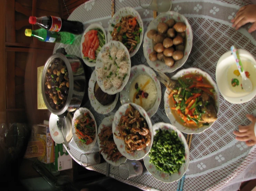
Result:
{"label": "dark reddish-brown food partly hidden under the fried shrimp plate, food only", "polygon": [[112,127],[103,127],[99,133],[100,153],[107,154],[107,159],[116,162],[123,155],[117,150],[113,139]]}

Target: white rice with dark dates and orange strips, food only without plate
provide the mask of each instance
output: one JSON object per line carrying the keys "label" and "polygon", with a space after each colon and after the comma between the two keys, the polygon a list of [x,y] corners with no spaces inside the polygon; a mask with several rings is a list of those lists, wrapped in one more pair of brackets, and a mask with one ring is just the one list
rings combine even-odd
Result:
{"label": "white rice with dark dates and orange strips, food only without plate", "polygon": [[129,96],[133,103],[148,111],[153,107],[157,99],[156,84],[147,74],[140,74],[132,81]]}

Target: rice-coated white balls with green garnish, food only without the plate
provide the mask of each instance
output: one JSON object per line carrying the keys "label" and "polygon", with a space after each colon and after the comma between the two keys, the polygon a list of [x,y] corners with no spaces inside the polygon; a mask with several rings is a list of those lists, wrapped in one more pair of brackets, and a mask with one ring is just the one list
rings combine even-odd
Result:
{"label": "rice-coated white balls with green garnish, food only without the plate", "polygon": [[122,86],[127,72],[129,70],[129,63],[126,60],[125,51],[117,49],[113,46],[110,51],[102,54],[103,67],[96,70],[98,77],[103,80],[104,88],[110,89],[112,87],[118,89]]}

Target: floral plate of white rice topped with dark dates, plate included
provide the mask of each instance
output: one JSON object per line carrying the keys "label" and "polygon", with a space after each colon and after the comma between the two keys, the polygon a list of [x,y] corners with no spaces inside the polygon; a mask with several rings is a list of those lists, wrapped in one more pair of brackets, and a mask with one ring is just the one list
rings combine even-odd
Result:
{"label": "floral plate of white rice topped with dark dates, plate included", "polygon": [[145,65],[131,68],[130,78],[120,92],[121,104],[135,103],[140,105],[151,118],[161,102],[161,85],[156,73]]}

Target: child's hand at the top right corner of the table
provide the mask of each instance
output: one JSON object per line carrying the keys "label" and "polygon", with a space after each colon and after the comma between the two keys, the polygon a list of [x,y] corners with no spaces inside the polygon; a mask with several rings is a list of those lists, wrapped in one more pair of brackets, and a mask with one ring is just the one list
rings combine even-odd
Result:
{"label": "child's hand at the top right corner of the table", "polygon": [[231,20],[232,27],[236,27],[238,30],[241,26],[250,22],[253,25],[249,28],[248,32],[251,33],[256,30],[256,5],[250,4],[239,9],[236,17]]}

